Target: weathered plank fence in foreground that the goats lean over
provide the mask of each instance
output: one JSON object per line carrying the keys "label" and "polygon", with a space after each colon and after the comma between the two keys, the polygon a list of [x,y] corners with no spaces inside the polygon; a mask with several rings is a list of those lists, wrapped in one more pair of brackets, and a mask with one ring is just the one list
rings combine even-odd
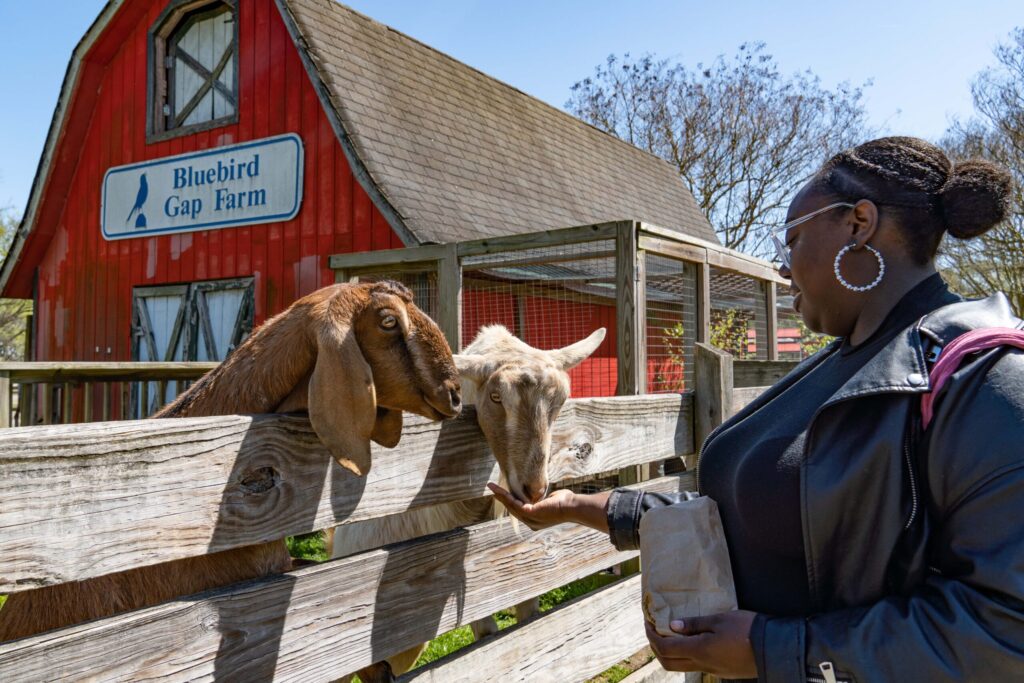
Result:
{"label": "weathered plank fence in foreground that the goats lean over", "polygon": [[[760,382],[781,371],[700,353],[700,377]],[[692,457],[699,430],[738,402],[733,380],[712,384],[570,400],[556,424],[552,480]],[[361,478],[333,464],[308,421],[272,415],[9,429],[0,472],[0,593],[335,524],[344,533],[345,524],[485,496],[498,478],[471,409],[445,423],[408,418],[398,446],[375,445]],[[694,482],[683,472],[635,485]],[[635,555],[582,527],[488,521],[3,643],[0,680],[333,680]],[[479,680],[481,671],[585,680],[645,644],[632,577],[403,680]]]}

